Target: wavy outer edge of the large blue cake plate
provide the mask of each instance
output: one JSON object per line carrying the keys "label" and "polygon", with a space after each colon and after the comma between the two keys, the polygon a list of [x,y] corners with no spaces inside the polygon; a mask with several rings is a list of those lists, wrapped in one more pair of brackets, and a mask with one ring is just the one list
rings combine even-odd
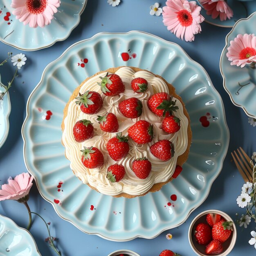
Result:
{"label": "wavy outer edge of the large blue cake plate", "polygon": [[173,42],[170,42],[170,41],[168,41],[168,40],[165,40],[165,39],[163,39],[163,38],[161,38],[161,37],[159,37],[159,36],[155,36],[155,35],[153,35],[153,34],[150,34],[150,33],[144,32],[144,31],[138,31],[138,30],[132,30],[132,31],[123,32],[123,33],[118,33],[118,32],[116,32],[116,33],[100,32],[100,33],[97,33],[97,34],[95,34],[94,36],[92,36],[92,37],[90,37],[90,38],[87,38],[87,39],[84,39],[84,40],[80,40],[80,41],[74,43],[73,45],[70,45],[70,47],[68,47],[68,48],[61,54],[61,56],[59,56],[56,60],[54,60],[54,61],[52,61],[51,63],[49,63],[49,64],[45,67],[45,69],[44,69],[44,71],[43,71],[43,74],[42,74],[42,76],[41,76],[41,79],[40,79],[39,83],[36,85],[36,87],[34,88],[34,90],[33,90],[33,91],[31,92],[31,94],[29,95],[29,98],[28,98],[28,100],[27,100],[27,106],[26,106],[26,118],[25,118],[25,120],[24,120],[24,122],[23,122],[23,124],[22,124],[22,129],[21,129],[21,135],[22,135],[22,139],[23,139],[23,159],[24,159],[24,163],[25,163],[25,166],[26,166],[26,168],[27,168],[27,171],[28,171],[31,175],[33,175],[33,173],[31,173],[31,172],[29,171],[28,164],[27,164],[27,162],[26,162],[26,157],[25,157],[26,141],[25,141],[25,132],[24,132],[24,131],[25,131],[25,127],[26,127],[26,125],[27,125],[28,117],[29,117],[29,113],[28,113],[29,101],[30,101],[32,95],[34,94],[34,92],[36,92],[36,90],[38,89],[40,83],[42,83],[42,81],[43,81],[43,76],[44,76],[44,74],[45,74],[45,72],[46,72],[48,66],[52,65],[53,63],[55,63],[56,61],[58,61],[60,58],[62,58],[63,55],[64,55],[70,48],[74,47],[75,45],[77,45],[77,44],[79,44],[79,43],[82,43],[82,42],[86,42],[86,41],[88,41],[88,40],[91,40],[91,39],[93,39],[93,38],[95,38],[95,37],[97,37],[97,36],[99,36],[99,35],[101,35],[101,34],[111,34],[111,35],[118,34],[118,35],[122,35],[122,34],[130,34],[130,33],[146,34],[146,35],[148,35],[148,36],[155,37],[155,38],[157,38],[158,40],[162,40],[162,41],[165,42],[165,43],[169,43],[169,44],[176,45],[177,47],[179,47],[179,48],[181,49],[181,51],[185,54],[185,56],[186,56],[187,58],[189,58],[190,61],[192,61],[193,63],[195,63],[196,65],[198,65],[198,66],[204,71],[204,73],[205,73],[207,79],[209,79],[209,82],[211,83],[211,87],[212,87],[213,90],[215,91],[216,95],[220,98],[220,102],[221,102],[222,109],[223,109],[223,116],[224,116],[224,120],[223,120],[223,121],[224,121],[225,126],[226,126],[226,128],[227,128],[227,142],[228,142],[228,143],[227,143],[227,145],[225,146],[225,148],[223,149],[223,159],[222,159],[222,162],[221,162],[220,165],[219,165],[218,173],[217,173],[217,175],[216,175],[215,177],[212,178],[212,180],[209,180],[209,185],[210,185],[210,186],[209,186],[209,189],[206,191],[206,193],[205,193],[203,199],[202,199],[198,204],[196,204],[196,205],[189,211],[189,213],[187,214],[186,218],[184,218],[184,220],[183,220],[182,222],[180,222],[180,223],[178,223],[177,225],[174,225],[174,226],[172,226],[172,227],[167,227],[167,228],[161,229],[161,231],[157,232],[157,234],[155,234],[154,236],[142,236],[142,235],[137,235],[137,236],[134,236],[134,237],[132,237],[132,238],[127,238],[127,239],[124,239],[124,240],[117,240],[117,239],[113,239],[113,238],[108,238],[108,237],[103,236],[103,235],[101,235],[101,234],[99,234],[99,233],[97,233],[97,232],[94,232],[94,233],[92,232],[92,233],[90,233],[90,232],[88,232],[88,231],[84,231],[83,229],[81,229],[80,227],[78,227],[76,224],[74,224],[74,222],[72,222],[71,220],[68,220],[68,219],[64,218],[63,216],[61,216],[60,213],[58,213],[58,211],[57,211],[57,209],[56,209],[56,205],[54,205],[54,203],[53,203],[52,201],[50,201],[49,199],[47,199],[47,198],[41,193],[41,191],[40,191],[40,189],[39,189],[39,184],[38,184],[38,182],[37,182],[37,180],[36,180],[36,177],[33,176],[34,179],[35,179],[35,181],[36,181],[36,186],[37,186],[37,188],[38,188],[38,191],[39,191],[40,195],[41,195],[47,202],[49,202],[49,203],[52,204],[54,210],[56,211],[56,213],[58,214],[59,217],[61,217],[63,220],[66,220],[66,221],[72,223],[72,225],[74,225],[76,228],[78,228],[79,230],[83,231],[83,232],[86,233],[86,234],[97,235],[97,236],[99,236],[99,237],[101,237],[101,238],[104,238],[104,239],[106,239],[106,240],[115,241],[115,242],[127,242],[127,241],[133,240],[133,239],[135,239],[135,238],[153,239],[153,238],[156,238],[156,237],[159,236],[162,232],[164,232],[164,231],[166,231],[166,230],[168,230],[168,229],[173,229],[173,228],[175,228],[175,227],[178,227],[178,226],[182,225],[182,224],[189,218],[190,214],[191,214],[195,209],[197,209],[197,208],[207,199],[207,197],[208,197],[208,195],[209,195],[209,193],[210,193],[211,186],[212,186],[214,180],[216,180],[216,178],[218,177],[218,175],[220,174],[220,172],[221,172],[221,170],[222,170],[223,162],[224,162],[225,157],[226,157],[226,155],[227,155],[227,150],[228,150],[228,146],[229,146],[229,139],[230,139],[229,128],[228,128],[228,126],[227,126],[227,120],[226,120],[226,115],[225,115],[225,108],[224,108],[224,104],[223,104],[223,101],[222,101],[222,98],[221,98],[219,92],[218,92],[218,91],[216,90],[216,88],[213,86],[213,83],[212,83],[212,81],[211,81],[211,79],[210,79],[210,77],[209,77],[209,74],[208,74],[207,71],[204,69],[204,67],[202,67],[202,65],[200,65],[198,62],[194,61],[194,60],[184,51],[184,49],[183,49],[180,45],[178,45],[178,44],[176,44],[176,43],[173,43]]}

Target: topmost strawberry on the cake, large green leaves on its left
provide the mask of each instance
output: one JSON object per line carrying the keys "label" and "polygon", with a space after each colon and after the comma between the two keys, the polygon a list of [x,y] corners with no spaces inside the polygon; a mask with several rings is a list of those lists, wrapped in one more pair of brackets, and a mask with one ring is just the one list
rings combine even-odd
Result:
{"label": "topmost strawberry on the cake, large green leaves on its left", "polygon": [[102,81],[98,85],[101,87],[101,92],[106,96],[116,96],[124,92],[124,83],[119,75],[107,73],[106,76],[99,78]]}

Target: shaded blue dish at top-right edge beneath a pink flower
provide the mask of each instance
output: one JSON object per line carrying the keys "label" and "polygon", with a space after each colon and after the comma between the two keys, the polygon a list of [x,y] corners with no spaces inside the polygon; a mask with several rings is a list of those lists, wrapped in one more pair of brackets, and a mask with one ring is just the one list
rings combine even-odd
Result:
{"label": "shaded blue dish at top-right edge beneath a pink flower", "polygon": [[[202,7],[199,0],[196,0],[198,4]],[[202,8],[201,14],[205,18],[205,22],[218,27],[233,27],[237,20],[241,18],[247,18],[252,12],[256,11],[256,1],[243,1],[229,0],[229,6],[234,12],[234,16],[229,20],[221,21],[220,18],[213,19],[210,15],[206,14],[206,11]]]}

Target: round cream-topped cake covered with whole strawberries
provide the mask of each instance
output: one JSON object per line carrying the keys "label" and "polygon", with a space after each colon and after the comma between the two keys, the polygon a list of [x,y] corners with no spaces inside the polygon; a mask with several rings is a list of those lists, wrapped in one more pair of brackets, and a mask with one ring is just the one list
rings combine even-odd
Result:
{"label": "round cream-topped cake covered with whole strawberries", "polygon": [[175,88],[137,67],[85,79],[64,109],[62,130],[76,177],[100,193],[126,198],[158,191],[177,177],[192,136]]}

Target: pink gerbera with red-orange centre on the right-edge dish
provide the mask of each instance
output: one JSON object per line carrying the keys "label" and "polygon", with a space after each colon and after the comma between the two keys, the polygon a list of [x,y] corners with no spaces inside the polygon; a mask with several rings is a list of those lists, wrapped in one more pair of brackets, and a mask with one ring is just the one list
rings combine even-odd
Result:
{"label": "pink gerbera with red-orange centre on the right-edge dish", "polygon": [[256,36],[254,34],[238,34],[230,41],[227,48],[227,57],[231,65],[244,67],[246,64],[256,62]]}

